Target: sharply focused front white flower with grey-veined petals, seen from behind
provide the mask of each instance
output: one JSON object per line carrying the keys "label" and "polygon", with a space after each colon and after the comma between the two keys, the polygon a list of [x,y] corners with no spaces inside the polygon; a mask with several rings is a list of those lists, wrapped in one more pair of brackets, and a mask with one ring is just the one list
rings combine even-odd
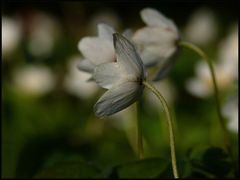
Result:
{"label": "sharply focused front white flower with grey-veined petals, seen from behind", "polygon": [[97,66],[93,77],[97,84],[108,89],[94,106],[98,117],[123,110],[142,94],[145,79],[144,65],[134,46],[123,36],[113,35],[116,62]]}

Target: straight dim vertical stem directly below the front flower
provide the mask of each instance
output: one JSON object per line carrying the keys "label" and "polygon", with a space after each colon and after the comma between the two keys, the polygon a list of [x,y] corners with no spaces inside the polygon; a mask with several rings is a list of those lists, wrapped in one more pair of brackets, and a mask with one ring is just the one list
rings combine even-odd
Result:
{"label": "straight dim vertical stem directly below the front flower", "polygon": [[138,156],[139,159],[143,159],[143,137],[142,137],[142,128],[141,128],[141,122],[140,122],[140,101],[136,102],[136,118],[137,118],[137,146],[138,146]]}

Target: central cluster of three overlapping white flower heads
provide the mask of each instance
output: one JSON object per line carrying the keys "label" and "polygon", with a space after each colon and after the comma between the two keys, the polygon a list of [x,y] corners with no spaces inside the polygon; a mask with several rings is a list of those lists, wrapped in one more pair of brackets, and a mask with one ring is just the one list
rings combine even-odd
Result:
{"label": "central cluster of three overlapping white flower heads", "polygon": [[[122,35],[106,25],[98,24],[97,37],[84,37],[78,48],[84,60],[81,71],[92,75],[108,91],[95,104],[95,114],[109,116],[137,100],[144,89],[146,68],[166,64],[177,50],[179,33],[176,25],[160,12],[145,8],[141,11],[146,27]],[[163,72],[156,79],[162,78]]]}

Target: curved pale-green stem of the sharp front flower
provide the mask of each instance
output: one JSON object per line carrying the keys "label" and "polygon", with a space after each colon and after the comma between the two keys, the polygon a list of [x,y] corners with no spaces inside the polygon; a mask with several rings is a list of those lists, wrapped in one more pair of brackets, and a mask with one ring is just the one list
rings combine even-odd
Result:
{"label": "curved pale-green stem of the sharp front flower", "polygon": [[167,124],[168,124],[168,130],[169,130],[173,175],[174,175],[174,178],[179,178],[178,171],[177,171],[176,155],[175,155],[175,142],[174,142],[174,133],[173,133],[173,125],[172,125],[173,122],[172,122],[172,117],[171,117],[167,102],[164,99],[164,97],[161,95],[161,93],[153,85],[149,84],[146,81],[143,81],[143,84],[157,96],[157,98],[160,100],[160,102],[163,105],[164,111],[166,112]]}

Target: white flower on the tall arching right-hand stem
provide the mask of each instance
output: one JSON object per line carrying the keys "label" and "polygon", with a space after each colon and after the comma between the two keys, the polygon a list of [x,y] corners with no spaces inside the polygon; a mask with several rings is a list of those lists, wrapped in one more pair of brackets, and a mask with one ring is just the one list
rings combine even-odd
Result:
{"label": "white flower on the tall arching right-hand stem", "polygon": [[144,65],[164,63],[177,50],[179,32],[174,22],[155,9],[141,11],[146,27],[135,32],[133,42],[138,47]]}

